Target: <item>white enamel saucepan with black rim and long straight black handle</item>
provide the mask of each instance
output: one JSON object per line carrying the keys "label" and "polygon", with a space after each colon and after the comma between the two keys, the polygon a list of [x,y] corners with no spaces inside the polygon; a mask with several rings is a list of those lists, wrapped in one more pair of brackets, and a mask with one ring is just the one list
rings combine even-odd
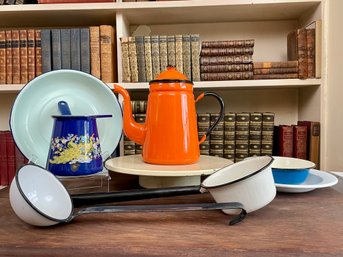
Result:
{"label": "white enamel saucepan with black rim and long straight black handle", "polygon": [[[109,161],[109,160],[108,160]],[[225,166],[209,175],[199,186],[144,189],[123,192],[74,195],[76,205],[138,200],[209,192],[216,202],[240,202],[247,212],[269,204],[276,195],[270,156],[251,157]],[[225,210],[228,214],[236,214]]]}

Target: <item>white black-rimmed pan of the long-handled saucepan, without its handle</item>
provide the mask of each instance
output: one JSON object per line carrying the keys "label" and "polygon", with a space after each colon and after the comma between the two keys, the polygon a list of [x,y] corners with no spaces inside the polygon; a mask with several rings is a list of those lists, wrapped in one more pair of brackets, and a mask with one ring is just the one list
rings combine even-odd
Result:
{"label": "white black-rimmed pan of the long-handled saucepan, without its handle", "polygon": [[[208,190],[218,203],[237,201],[248,213],[256,211],[276,195],[272,162],[271,156],[244,159],[213,173],[201,183],[201,187]],[[232,214],[232,210],[224,212]]]}

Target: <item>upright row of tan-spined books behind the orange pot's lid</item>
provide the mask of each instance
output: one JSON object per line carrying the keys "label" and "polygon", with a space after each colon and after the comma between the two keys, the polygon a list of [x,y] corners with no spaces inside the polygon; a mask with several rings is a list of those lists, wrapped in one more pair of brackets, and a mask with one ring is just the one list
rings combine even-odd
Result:
{"label": "upright row of tan-spined books behind the orange pot's lid", "polygon": [[123,82],[151,81],[169,65],[189,80],[200,80],[198,34],[131,36],[120,40]]}

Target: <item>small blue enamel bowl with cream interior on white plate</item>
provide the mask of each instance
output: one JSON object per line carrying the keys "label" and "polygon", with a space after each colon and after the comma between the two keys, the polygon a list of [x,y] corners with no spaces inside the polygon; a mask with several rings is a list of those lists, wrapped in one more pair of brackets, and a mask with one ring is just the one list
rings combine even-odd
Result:
{"label": "small blue enamel bowl with cream interior on white plate", "polygon": [[273,156],[271,165],[276,184],[297,185],[304,183],[309,175],[309,170],[315,163],[293,157]]}

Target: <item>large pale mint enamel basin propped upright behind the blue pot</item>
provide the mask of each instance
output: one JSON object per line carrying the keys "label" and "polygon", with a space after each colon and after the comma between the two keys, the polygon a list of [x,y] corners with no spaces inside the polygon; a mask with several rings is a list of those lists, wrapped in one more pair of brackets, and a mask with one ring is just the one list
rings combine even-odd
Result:
{"label": "large pale mint enamel basin propped upright behind the blue pot", "polygon": [[100,146],[110,155],[122,135],[122,112],[112,90],[98,78],[75,70],[56,70],[31,80],[12,107],[10,128],[19,150],[35,164],[45,167],[58,102],[66,101],[73,115],[111,114],[99,119]]}

